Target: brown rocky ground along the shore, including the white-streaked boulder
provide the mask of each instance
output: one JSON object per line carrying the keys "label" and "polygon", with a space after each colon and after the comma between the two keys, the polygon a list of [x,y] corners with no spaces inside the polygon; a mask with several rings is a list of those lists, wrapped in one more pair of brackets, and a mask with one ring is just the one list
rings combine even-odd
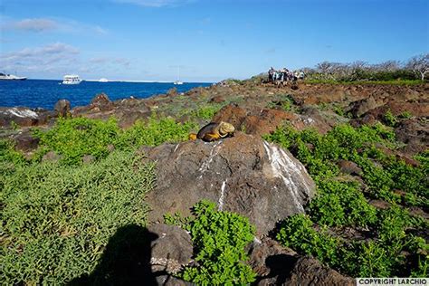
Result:
{"label": "brown rocky ground along the shore, including the white-streaked boulder", "polygon": [[[218,109],[213,118],[192,118],[192,112],[204,106]],[[429,146],[429,84],[299,83],[278,88],[252,81],[224,81],[184,94],[172,90],[144,100],[110,101],[107,95],[99,94],[90,105],[73,109],[67,100],[58,101],[52,111],[0,108],[0,137],[14,139],[17,149],[31,153],[38,141],[32,137],[30,129],[49,129],[59,117],[114,117],[120,127],[127,128],[154,114],[181,122],[192,118],[200,126],[207,121],[226,121],[238,130],[234,138],[213,143],[186,141],[139,148],[138,152],[147,155],[145,160],[157,162],[158,183],[147,198],[152,209],[149,222],[155,225],[153,228],[161,229],[154,232],[160,232],[161,236],[172,232],[172,237],[185,237],[186,241],[177,246],[178,239],[169,240],[167,245],[157,246],[157,249],[184,247],[183,253],[192,252],[190,239],[183,230],[184,233],[176,234],[181,230],[155,223],[162,222],[162,215],[166,213],[189,215],[196,202],[202,198],[211,199],[217,202],[219,210],[245,215],[256,225],[255,242],[249,247],[249,263],[258,274],[257,285],[354,283],[314,258],[300,256],[270,238],[270,232],[279,221],[305,213],[304,206],[315,195],[315,184],[300,161],[287,149],[262,139],[263,135],[272,133],[285,122],[294,129],[312,128],[326,134],[340,123],[358,127],[377,120],[386,124],[396,120],[392,127],[401,146],[395,150],[380,149],[408,165],[417,166],[419,163],[414,156]],[[361,170],[353,162],[338,161],[338,167],[350,176],[360,176]],[[382,200],[370,204],[386,207]],[[423,208],[415,207],[411,211],[425,219],[429,217]],[[177,258],[178,263],[189,263],[191,254],[185,261],[183,257]],[[151,259],[153,267],[170,259],[170,255],[171,252],[159,251],[157,257]],[[166,281],[168,275],[163,277],[158,278],[159,283]]]}

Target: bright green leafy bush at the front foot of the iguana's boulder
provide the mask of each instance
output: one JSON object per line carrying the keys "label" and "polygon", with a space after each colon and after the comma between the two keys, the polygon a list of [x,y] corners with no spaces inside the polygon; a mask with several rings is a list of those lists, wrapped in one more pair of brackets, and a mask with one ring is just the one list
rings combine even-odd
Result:
{"label": "bright green leafy bush at the front foot of the iguana's boulder", "polygon": [[193,209],[195,219],[167,215],[167,222],[185,227],[194,242],[196,266],[186,267],[181,277],[198,285],[243,285],[254,281],[252,268],[243,263],[244,247],[253,241],[249,220],[229,212],[218,212],[215,203],[203,200]]}

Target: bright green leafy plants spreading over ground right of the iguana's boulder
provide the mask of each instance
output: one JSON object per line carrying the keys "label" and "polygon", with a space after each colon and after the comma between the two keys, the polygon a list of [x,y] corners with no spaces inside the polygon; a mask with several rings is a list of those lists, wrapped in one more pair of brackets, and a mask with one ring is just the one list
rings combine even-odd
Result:
{"label": "bright green leafy plants spreading over ground right of the iguana's boulder", "polygon": [[[266,138],[289,148],[318,187],[309,215],[294,215],[281,224],[277,239],[282,244],[353,277],[427,275],[424,231],[429,225],[407,211],[429,206],[427,152],[416,157],[418,167],[387,156],[377,147],[396,148],[395,134],[380,123],[356,129],[339,125],[326,135],[284,127]],[[363,181],[342,173],[339,160],[356,164]],[[368,204],[370,198],[391,206],[377,209]],[[342,237],[346,228],[364,239]]]}

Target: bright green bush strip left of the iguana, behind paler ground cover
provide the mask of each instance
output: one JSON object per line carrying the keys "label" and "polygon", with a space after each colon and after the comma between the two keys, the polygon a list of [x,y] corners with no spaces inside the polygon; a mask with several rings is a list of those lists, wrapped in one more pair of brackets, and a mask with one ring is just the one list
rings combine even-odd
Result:
{"label": "bright green bush strip left of the iguana, behind paler ground cover", "polygon": [[120,150],[134,150],[142,145],[156,146],[166,141],[182,141],[187,138],[192,123],[176,123],[174,119],[137,121],[129,129],[119,129],[115,119],[58,119],[55,126],[45,132],[34,132],[40,138],[40,148],[35,160],[48,151],[62,156],[62,164],[79,165],[81,157],[92,155],[97,159],[109,154],[109,146]]}

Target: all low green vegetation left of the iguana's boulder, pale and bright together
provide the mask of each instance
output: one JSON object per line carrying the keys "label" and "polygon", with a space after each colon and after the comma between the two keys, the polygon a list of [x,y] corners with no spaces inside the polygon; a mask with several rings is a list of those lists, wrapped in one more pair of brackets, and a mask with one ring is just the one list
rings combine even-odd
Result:
{"label": "all low green vegetation left of the iguana's boulder, pale and bright together", "polygon": [[[148,119],[119,129],[115,119],[59,119],[35,130],[33,158],[0,141],[2,272],[5,284],[64,284],[90,274],[116,231],[146,224],[144,197],[155,166],[135,150],[181,141],[195,128],[173,119]],[[41,160],[53,151],[58,162]],[[96,160],[83,164],[82,157]]]}

